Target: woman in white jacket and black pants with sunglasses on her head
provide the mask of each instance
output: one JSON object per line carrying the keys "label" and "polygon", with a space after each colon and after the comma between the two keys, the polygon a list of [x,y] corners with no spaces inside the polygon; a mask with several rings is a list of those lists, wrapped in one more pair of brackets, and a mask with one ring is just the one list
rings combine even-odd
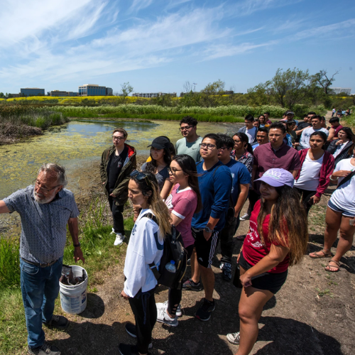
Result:
{"label": "woman in white jacket and black pants with sunglasses on her head", "polygon": [[[171,231],[170,212],[161,200],[158,182],[152,173],[133,170],[129,180],[129,198],[141,205],[141,212],[133,226],[124,263],[124,290],[121,295],[129,300],[136,326],[126,324],[126,332],[137,338],[137,345],[119,344],[121,355],[148,354],[156,322],[154,290],[157,285],[150,263],[159,268],[163,255],[164,236]],[[147,217],[153,214],[158,222]]]}

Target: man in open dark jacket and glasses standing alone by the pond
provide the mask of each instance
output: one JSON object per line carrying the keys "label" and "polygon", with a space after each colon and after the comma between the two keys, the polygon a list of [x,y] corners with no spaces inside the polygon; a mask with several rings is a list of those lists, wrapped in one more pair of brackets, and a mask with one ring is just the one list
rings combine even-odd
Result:
{"label": "man in open dark jacket and glasses standing alone by the pond", "polygon": [[114,219],[112,234],[116,234],[114,245],[124,241],[124,204],[129,195],[129,175],[136,169],[136,149],[126,144],[128,133],[124,129],[115,129],[112,133],[114,146],[102,153],[100,175],[102,185],[109,199]]}

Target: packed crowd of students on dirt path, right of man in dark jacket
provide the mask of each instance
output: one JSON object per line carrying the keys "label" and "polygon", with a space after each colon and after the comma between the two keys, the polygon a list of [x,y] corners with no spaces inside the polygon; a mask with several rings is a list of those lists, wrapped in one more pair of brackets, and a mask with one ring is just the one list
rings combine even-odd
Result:
{"label": "packed crowd of students on dirt path, right of man in dark jacket", "polygon": [[[203,138],[197,135],[197,121],[186,116],[180,121],[183,138],[175,148],[168,137],[153,140],[148,163],[141,172],[133,170],[129,180],[136,224],[122,295],[130,300],[136,318],[136,325],[127,324],[126,330],[137,338],[137,346],[121,344],[121,354],[148,354],[155,321],[178,326],[182,290],[204,290],[195,316],[210,319],[215,309],[211,266],[217,244],[220,241],[222,278],[230,281],[233,238],[240,220],[250,219],[238,256],[243,285],[240,328],[227,335],[229,342],[239,344],[237,354],[249,354],[263,305],[285,283],[288,266],[302,259],[308,241],[307,214],[330,182],[338,182],[338,188],[327,207],[324,249],[310,257],[332,257],[325,270],[339,271],[340,258],[350,249],[355,232],[354,133],[337,117],[327,129],[315,112],[305,115],[303,122],[293,116],[287,111],[283,119],[271,122],[268,113],[258,119],[248,115],[245,126],[233,135],[209,133]],[[249,208],[240,217],[246,200]],[[147,214],[156,215],[157,222]],[[148,264],[159,265],[160,245],[172,225],[182,236],[191,277],[182,290],[170,288],[168,300],[155,304],[158,281]],[[339,229],[333,257],[330,250]]]}

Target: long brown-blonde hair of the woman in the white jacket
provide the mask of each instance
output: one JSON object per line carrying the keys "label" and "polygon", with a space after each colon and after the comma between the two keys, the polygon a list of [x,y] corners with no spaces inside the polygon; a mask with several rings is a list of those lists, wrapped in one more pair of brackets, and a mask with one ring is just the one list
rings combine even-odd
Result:
{"label": "long brown-blonde hair of the woman in the white jacket", "polygon": [[135,176],[131,177],[131,180],[134,180],[138,185],[139,190],[141,190],[143,196],[148,196],[148,208],[153,211],[155,215],[158,226],[160,230],[160,240],[165,237],[165,234],[171,233],[171,217],[170,211],[166,204],[160,197],[158,181],[155,178],[153,173],[149,173],[148,171],[144,171],[146,177],[149,180],[149,183],[144,180],[137,180]]}

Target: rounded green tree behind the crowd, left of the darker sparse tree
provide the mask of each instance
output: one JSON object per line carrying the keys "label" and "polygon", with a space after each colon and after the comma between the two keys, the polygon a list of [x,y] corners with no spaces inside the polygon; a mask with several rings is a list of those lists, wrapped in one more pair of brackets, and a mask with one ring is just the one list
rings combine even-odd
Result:
{"label": "rounded green tree behind the crowd, left of the darker sparse tree", "polygon": [[295,104],[300,104],[307,95],[310,74],[300,69],[290,68],[283,72],[278,68],[271,80],[270,94],[282,107],[292,109]]}

